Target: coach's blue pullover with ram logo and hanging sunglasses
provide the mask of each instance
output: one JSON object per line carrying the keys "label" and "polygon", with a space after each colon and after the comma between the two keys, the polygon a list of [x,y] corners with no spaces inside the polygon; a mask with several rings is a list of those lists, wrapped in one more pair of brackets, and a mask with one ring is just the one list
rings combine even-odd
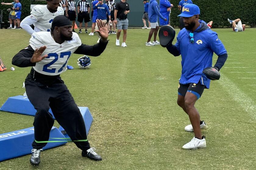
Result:
{"label": "coach's blue pullover with ram logo and hanging sunglasses", "polygon": [[[204,22],[204,21],[199,21]],[[205,23],[205,22],[204,22]],[[201,28],[202,23],[196,29]],[[177,35],[176,49],[181,54],[181,76],[180,83],[198,83],[209,88],[210,79],[208,79],[203,70],[206,67],[212,67],[213,52],[219,56],[227,53],[222,42],[219,40],[216,32],[211,29],[205,29],[201,32],[194,32],[194,43],[190,43],[187,29],[182,29]]]}

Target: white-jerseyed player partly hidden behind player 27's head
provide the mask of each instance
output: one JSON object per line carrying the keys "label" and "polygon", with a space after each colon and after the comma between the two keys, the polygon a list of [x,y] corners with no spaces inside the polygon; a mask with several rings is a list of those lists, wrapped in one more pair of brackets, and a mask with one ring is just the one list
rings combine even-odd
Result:
{"label": "white-jerseyed player partly hidden behind player 27's head", "polygon": [[[29,34],[40,31],[50,31],[52,20],[55,16],[64,15],[63,9],[59,6],[59,0],[47,0],[47,5],[36,5],[20,23],[20,27]],[[30,25],[34,25],[34,30]]]}

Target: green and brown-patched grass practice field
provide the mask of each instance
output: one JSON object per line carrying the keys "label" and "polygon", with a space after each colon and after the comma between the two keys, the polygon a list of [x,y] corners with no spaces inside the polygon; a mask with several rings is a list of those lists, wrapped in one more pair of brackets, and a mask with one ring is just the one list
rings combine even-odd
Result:
{"label": "green and brown-patched grass practice field", "polygon": [[[228,60],[221,79],[212,81],[196,103],[208,124],[202,131],[206,148],[181,148],[193,138],[193,133],[184,131],[190,124],[188,116],[176,104],[181,57],[173,57],[161,46],[145,46],[149,30],[128,29],[127,48],[117,47],[116,35],[110,35],[107,49],[91,57],[89,69],[79,69],[76,60],[81,55],[73,54],[68,64],[75,69],[61,75],[77,105],[91,111],[94,121],[88,139],[103,160],[84,158],[75,144],[68,143],[43,151],[38,167],[32,167],[26,155],[0,162],[0,169],[255,169],[256,29],[213,31],[223,42]],[[12,57],[28,45],[30,36],[23,29],[0,33],[0,56],[8,68],[0,72],[1,106],[8,97],[25,91],[22,83],[30,68],[14,66],[11,71],[10,67]],[[85,44],[97,41],[97,36],[79,35]],[[214,54],[213,63],[216,59]],[[31,127],[33,120],[0,112],[0,134]],[[54,126],[59,127],[56,121]]]}

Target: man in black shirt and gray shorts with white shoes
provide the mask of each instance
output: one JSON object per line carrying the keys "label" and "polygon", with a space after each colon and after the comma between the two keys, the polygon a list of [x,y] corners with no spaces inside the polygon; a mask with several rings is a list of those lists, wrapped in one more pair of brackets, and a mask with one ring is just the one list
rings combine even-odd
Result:
{"label": "man in black shirt and gray shorts with white shoes", "polygon": [[119,37],[121,35],[121,31],[123,29],[123,43],[122,47],[127,47],[126,45],[126,37],[127,37],[127,29],[128,29],[128,19],[127,14],[130,12],[129,4],[126,0],[121,0],[116,3],[115,13],[114,13],[114,23],[117,25],[117,33],[116,33],[116,45],[119,46]]}

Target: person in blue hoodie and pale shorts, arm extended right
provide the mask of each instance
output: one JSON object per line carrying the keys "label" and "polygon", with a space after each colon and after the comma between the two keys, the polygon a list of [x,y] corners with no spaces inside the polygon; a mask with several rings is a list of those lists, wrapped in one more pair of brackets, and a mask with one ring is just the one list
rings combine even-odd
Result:
{"label": "person in blue hoodie and pale shorts, arm extended right", "polygon": [[[160,18],[162,18],[163,20],[167,21],[167,19],[165,17],[163,17],[163,15],[160,14],[159,5],[156,2],[156,0],[150,0],[149,6],[148,6],[148,19],[149,19],[149,22],[151,25],[151,29],[150,29],[150,32],[148,35],[148,41],[145,44],[146,46],[154,46],[154,45],[160,44],[160,42],[158,42],[156,40],[157,32],[159,29],[158,22],[157,22],[158,16]],[[154,33],[154,41],[152,43],[151,37],[152,37],[153,33]]]}

